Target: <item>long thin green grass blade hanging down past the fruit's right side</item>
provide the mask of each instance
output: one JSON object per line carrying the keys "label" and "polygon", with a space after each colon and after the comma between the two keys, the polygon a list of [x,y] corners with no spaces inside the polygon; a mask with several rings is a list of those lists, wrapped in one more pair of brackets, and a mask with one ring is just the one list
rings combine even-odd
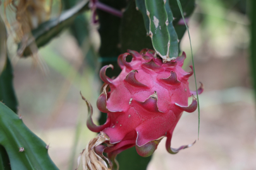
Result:
{"label": "long thin green grass blade hanging down past the fruit's right side", "polygon": [[[178,3],[178,6],[180,8],[180,13],[181,13],[181,16],[183,18],[183,21],[186,25],[186,21],[185,21],[185,17],[183,15],[183,10],[182,10],[182,6],[181,6],[181,3],[180,3],[180,0],[176,0],[177,3]],[[188,25],[186,25],[186,29],[188,30]],[[188,37],[190,38],[190,30],[188,30]],[[190,38],[190,49],[191,49],[191,55],[192,55],[192,64],[193,64],[193,72],[194,72],[194,77],[195,77],[195,88],[197,89],[197,79],[196,79],[196,76],[195,76],[195,65],[194,65],[194,59],[193,59],[193,51],[192,51],[192,43],[191,43],[191,38]],[[200,105],[199,105],[199,98],[198,98],[198,92],[197,92],[197,108],[198,108],[198,139],[199,139],[199,130],[200,130]]]}

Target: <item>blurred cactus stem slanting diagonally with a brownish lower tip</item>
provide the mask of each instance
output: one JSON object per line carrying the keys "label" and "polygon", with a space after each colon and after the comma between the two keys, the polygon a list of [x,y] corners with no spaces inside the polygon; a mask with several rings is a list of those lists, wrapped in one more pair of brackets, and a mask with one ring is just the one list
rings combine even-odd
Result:
{"label": "blurred cactus stem slanting diagonally with a brownish lower tip", "polygon": [[50,42],[52,38],[56,37],[62,30],[64,30],[64,28],[68,28],[72,25],[76,16],[88,9],[90,9],[88,7],[88,0],[83,0],[73,8],[64,11],[59,18],[54,18],[42,23],[35,28],[35,30],[32,30],[32,38],[29,38],[27,42],[21,42],[18,45],[18,55],[23,55],[24,57],[31,55],[32,50],[30,49],[30,46],[32,46],[34,42],[36,43],[37,48],[46,45],[46,43]]}

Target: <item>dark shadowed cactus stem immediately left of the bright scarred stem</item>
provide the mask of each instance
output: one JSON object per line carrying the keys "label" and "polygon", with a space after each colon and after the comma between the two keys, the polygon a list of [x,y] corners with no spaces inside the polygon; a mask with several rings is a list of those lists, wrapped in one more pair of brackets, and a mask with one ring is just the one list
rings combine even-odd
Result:
{"label": "dark shadowed cactus stem immediately left of the bright scarred stem", "polygon": [[128,49],[137,52],[143,48],[153,49],[143,23],[142,13],[136,10],[135,1],[130,1],[121,21],[121,53],[127,52]]}

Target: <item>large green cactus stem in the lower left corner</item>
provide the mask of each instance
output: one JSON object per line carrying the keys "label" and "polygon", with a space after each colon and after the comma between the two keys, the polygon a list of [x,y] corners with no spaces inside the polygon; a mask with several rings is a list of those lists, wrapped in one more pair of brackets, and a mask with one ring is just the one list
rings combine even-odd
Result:
{"label": "large green cactus stem in the lower left corner", "polygon": [[58,169],[48,155],[46,143],[3,103],[0,103],[0,128],[0,145],[8,153],[11,169]]}

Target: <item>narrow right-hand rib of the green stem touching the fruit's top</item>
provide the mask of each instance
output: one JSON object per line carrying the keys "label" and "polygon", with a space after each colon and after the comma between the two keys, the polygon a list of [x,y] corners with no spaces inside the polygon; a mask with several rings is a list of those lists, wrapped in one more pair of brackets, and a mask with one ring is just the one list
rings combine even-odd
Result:
{"label": "narrow right-hand rib of the green stem touching the fruit's top", "polygon": [[169,57],[178,57],[179,55],[179,48],[178,48],[178,36],[173,26],[173,13],[171,11],[171,8],[169,6],[169,1],[166,1],[165,4],[166,13],[168,15],[168,31],[171,38],[171,45],[169,47]]}

